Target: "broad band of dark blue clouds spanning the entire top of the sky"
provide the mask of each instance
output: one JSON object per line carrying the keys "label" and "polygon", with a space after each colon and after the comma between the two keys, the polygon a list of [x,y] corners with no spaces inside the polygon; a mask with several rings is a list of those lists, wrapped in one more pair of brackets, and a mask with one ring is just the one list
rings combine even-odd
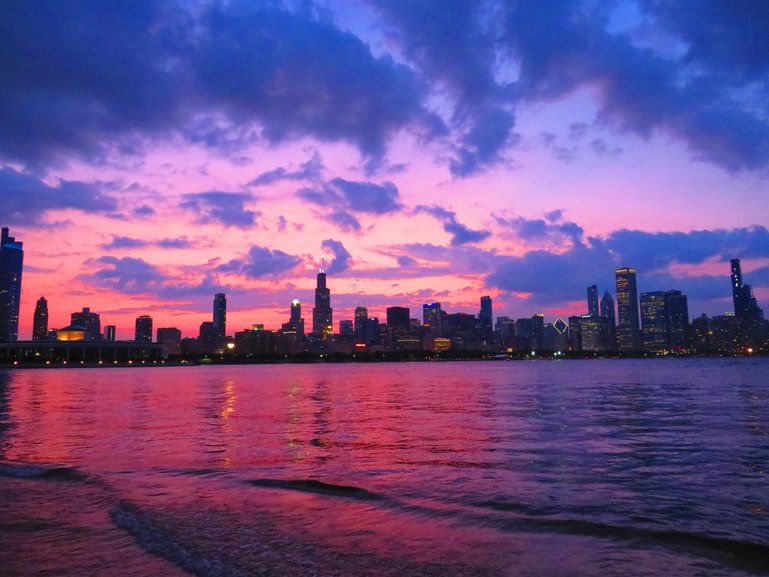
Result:
{"label": "broad band of dark blue clouds spanning the entire top of the sky", "polygon": [[[394,56],[374,55],[313,2],[2,2],[0,158],[33,169],[141,152],[156,138],[230,152],[310,137],[356,146],[371,168],[408,130],[441,139],[462,177],[504,161],[521,103],[590,89],[606,126],[662,132],[732,171],[769,165],[764,1],[639,0],[644,24],[681,54],[617,32],[615,2],[370,3]],[[575,123],[570,136],[584,132]],[[279,167],[254,183],[317,168]]]}

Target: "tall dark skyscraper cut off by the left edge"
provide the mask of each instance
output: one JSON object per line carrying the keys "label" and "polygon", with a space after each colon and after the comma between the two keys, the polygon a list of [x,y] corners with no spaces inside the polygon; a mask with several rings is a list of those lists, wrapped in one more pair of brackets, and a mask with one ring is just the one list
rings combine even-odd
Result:
{"label": "tall dark skyscraper cut off by the left edge", "polygon": [[16,242],[8,228],[3,227],[0,237],[0,342],[13,342],[19,337],[23,265],[23,243]]}

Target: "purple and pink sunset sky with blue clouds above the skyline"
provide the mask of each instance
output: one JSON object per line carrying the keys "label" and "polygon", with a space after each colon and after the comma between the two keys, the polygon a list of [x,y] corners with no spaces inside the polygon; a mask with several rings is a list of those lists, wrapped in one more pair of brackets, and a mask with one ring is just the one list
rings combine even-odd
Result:
{"label": "purple and pink sunset sky with blue clouds above the skyline", "polygon": [[[438,301],[586,312],[588,285],[769,305],[769,3],[0,3],[0,225],[20,338],[90,307],[196,336]],[[309,325],[308,325],[309,326]]]}

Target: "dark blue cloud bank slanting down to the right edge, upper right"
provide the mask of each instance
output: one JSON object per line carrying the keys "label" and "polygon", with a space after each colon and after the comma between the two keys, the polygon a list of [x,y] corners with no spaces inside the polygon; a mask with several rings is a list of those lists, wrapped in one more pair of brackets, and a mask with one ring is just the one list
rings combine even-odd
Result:
{"label": "dark blue cloud bank slanting down to the right edge, upper right", "polygon": [[[663,57],[634,45],[628,36],[610,34],[610,7],[577,1],[508,2],[505,41],[520,61],[519,95],[541,101],[597,87],[599,118],[609,125],[644,137],[664,130],[695,157],[728,170],[766,166],[769,123],[721,77],[728,64],[701,74],[686,59]],[[723,25],[709,20],[717,12],[704,16],[713,28]],[[680,20],[689,13],[676,14]],[[761,20],[730,18],[726,27],[727,36],[765,36]],[[769,52],[756,59],[766,65]],[[765,89],[767,78],[760,82]]]}

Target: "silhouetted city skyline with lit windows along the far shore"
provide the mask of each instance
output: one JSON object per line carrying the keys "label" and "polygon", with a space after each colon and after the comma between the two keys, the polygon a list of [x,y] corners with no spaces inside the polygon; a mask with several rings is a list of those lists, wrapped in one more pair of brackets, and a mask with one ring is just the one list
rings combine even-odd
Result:
{"label": "silhouetted city skyline with lit windows along the far shore", "polygon": [[[16,341],[19,293],[23,278],[23,243],[2,229],[0,246],[0,325],[6,336],[4,343]],[[704,313],[692,319],[688,296],[680,290],[638,291],[637,271],[630,267],[616,269],[617,305],[608,291],[600,302],[598,287],[586,287],[585,309],[582,313],[545,322],[544,314],[530,318],[495,316],[493,299],[479,299],[478,314],[448,312],[440,302],[422,304],[422,318],[410,316],[410,308],[391,306],[386,309],[386,322],[369,314],[365,306],[357,306],[354,319],[337,321],[334,330],[331,289],[323,264],[316,275],[315,300],[312,308],[312,329],[305,332],[301,302],[293,299],[287,322],[280,328],[266,327],[254,322],[251,327],[226,329],[227,297],[213,297],[211,319],[203,321],[197,333],[183,335],[178,327],[158,327],[153,339],[153,318],[141,314],[135,318],[133,342],[162,344],[169,354],[186,356],[224,354],[229,351],[241,357],[278,353],[322,354],[325,352],[352,354],[357,347],[372,350],[402,352],[477,351],[535,354],[551,351],[555,354],[610,353],[620,354],[689,354],[691,352],[752,353],[764,352],[769,346],[769,320],[753,294],[752,286],[743,282],[741,259],[729,261],[729,280],[733,311],[726,315],[708,317]],[[48,302],[37,300],[34,313],[32,341],[101,341],[115,342],[116,327],[101,330],[101,316],[83,307],[73,312],[71,324],[48,328]],[[234,337],[233,337],[234,335]],[[185,336],[186,338],[182,339]],[[191,338],[190,338],[191,337]],[[22,342],[25,339],[21,339]],[[125,342],[125,341],[124,341]],[[44,346],[44,345],[43,345]],[[30,351],[32,351],[31,349]],[[36,349],[34,349],[36,350]],[[27,354],[37,354],[28,351]],[[117,352],[115,350],[115,355]],[[141,354],[141,353],[140,353]]]}

